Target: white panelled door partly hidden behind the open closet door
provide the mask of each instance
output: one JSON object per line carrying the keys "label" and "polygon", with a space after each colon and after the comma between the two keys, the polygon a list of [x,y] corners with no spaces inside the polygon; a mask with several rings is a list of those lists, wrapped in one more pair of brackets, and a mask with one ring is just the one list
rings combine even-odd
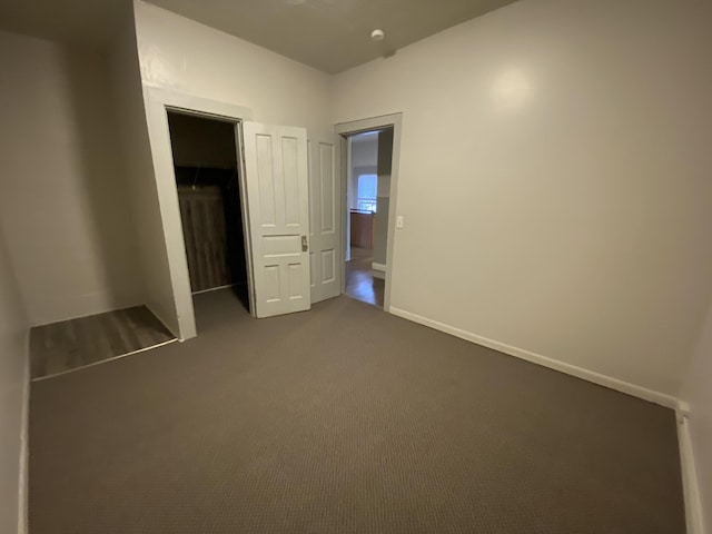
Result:
{"label": "white panelled door partly hidden behind the open closet door", "polygon": [[340,138],[309,136],[312,304],[342,294]]}

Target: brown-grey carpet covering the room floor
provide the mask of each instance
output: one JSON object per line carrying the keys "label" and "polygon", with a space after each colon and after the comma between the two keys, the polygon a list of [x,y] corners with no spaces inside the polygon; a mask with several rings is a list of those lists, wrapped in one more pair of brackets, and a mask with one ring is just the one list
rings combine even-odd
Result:
{"label": "brown-grey carpet covering the room floor", "polygon": [[683,534],[674,414],[348,298],[32,384],[31,534]]}

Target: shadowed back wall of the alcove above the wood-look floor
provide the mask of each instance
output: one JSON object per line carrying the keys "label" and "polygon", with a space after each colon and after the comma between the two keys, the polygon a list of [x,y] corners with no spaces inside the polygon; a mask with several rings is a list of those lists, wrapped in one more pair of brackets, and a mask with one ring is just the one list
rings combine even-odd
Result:
{"label": "shadowed back wall of the alcove above the wood-look floor", "polygon": [[32,325],[136,305],[106,60],[0,32],[0,211]]}

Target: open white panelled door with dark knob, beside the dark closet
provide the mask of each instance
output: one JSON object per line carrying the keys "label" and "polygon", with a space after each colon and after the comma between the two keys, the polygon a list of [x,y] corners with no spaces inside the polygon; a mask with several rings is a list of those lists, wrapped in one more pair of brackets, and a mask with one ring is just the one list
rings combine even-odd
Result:
{"label": "open white panelled door with dark knob, beside the dark closet", "polygon": [[257,317],[309,309],[309,181],[304,128],[243,122]]}

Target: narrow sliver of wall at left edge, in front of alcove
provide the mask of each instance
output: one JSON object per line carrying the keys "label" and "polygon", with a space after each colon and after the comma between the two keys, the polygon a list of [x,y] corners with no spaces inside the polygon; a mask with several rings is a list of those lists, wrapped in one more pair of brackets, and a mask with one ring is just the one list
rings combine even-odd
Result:
{"label": "narrow sliver of wall at left edge, in front of alcove", "polygon": [[18,497],[24,493],[20,471],[26,469],[22,434],[29,387],[28,330],[0,228],[0,532],[7,533],[21,533],[24,526],[27,503]]}

